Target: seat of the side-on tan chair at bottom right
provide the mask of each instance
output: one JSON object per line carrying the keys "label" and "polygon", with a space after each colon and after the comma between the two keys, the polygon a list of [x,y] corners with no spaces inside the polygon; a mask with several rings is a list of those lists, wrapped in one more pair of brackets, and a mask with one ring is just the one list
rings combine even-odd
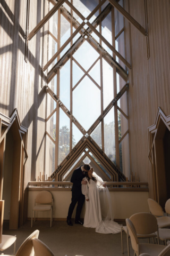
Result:
{"label": "seat of the side-on tan chair at bottom right", "polygon": [[139,243],[139,253],[148,253],[150,256],[158,256],[164,250],[165,245]]}

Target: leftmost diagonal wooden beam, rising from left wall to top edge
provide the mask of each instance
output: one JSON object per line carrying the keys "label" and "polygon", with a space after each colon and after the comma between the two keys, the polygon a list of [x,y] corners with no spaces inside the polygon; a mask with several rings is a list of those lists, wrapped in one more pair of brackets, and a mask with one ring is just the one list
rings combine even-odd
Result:
{"label": "leftmost diagonal wooden beam, rising from left wall to top edge", "polygon": [[53,14],[61,7],[61,5],[65,2],[65,0],[60,0],[58,3],[50,10],[47,15],[41,20],[38,25],[29,33],[28,40],[31,40],[33,36],[42,28],[45,23],[53,16]]}

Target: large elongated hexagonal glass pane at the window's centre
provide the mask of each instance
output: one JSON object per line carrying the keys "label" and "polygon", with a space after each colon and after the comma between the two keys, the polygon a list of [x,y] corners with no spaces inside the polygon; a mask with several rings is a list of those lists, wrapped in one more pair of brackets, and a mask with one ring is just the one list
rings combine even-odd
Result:
{"label": "large elongated hexagonal glass pane at the window's centre", "polygon": [[100,104],[100,90],[90,78],[84,77],[73,91],[73,115],[85,130],[88,130],[101,114]]}

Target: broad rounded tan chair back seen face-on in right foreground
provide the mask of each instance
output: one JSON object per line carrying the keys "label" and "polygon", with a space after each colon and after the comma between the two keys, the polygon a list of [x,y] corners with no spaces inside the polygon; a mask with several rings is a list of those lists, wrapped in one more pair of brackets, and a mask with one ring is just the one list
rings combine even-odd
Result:
{"label": "broad rounded tan chair back seen face-on in right foreground", "polygon": [[158,231],[156,217],[149,212],[139,212],[129,218],[137,231],[137,234],[148,235]]}

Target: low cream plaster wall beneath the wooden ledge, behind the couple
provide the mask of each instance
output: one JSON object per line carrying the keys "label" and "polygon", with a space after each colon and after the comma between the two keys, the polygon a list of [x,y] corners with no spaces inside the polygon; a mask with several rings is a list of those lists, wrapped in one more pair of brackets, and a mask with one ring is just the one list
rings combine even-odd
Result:
{"label": "low cream plaster wall beneath the wooden ledge, behind the couple", "polygon": [[[29,191],[28,197],[28,218],[31,218],[32,207],[35,205],[35,198],[39,191]],[[69,205],[71,203],[71,191],[50,191],[53,195],[53,218],[66,218]],[[137,212],[149,212],[147,199],[149,192],[127,192],[127,191],[111,191],[112,206],[115,219],[126,219]],[[100,192],[101,204],[103,204],[103,196]],[[75,207],[76,209],[76,207]],[[75,209],[72,218],[75,218]],[[106,209],[107,210],[107,209]],[[84,218],[85,204],[81,212],[81,218]],[[37,212],[37,218],[49,218],[50,212]]]}

